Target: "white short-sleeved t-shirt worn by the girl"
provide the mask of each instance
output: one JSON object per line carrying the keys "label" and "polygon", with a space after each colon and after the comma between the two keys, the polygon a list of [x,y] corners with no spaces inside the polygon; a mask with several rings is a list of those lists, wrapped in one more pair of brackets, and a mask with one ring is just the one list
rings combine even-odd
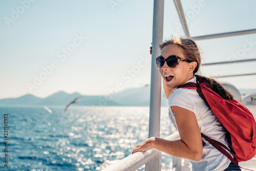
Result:
{"label": "white short-sleeved t-shirt worn by the girl", "polygon": [[[188,80],[187,82],[196,82],[196,77]],[[176,129],[176,120],[170,106],[179,106],[183,109],[194,112],[201,133],[228,146],[226,133],[224,132],[223,126],[205,104],[203,99],[199,96],[197,90],[176,89],[169,96],[168,103],[169,118],[174,123]],[[192,169],[195,171],[222,171],[227,168],[230,160],[204,138],[203,141],[206,143],[206,145],[203,146],[202,159],[200,161],[190,160]]]}

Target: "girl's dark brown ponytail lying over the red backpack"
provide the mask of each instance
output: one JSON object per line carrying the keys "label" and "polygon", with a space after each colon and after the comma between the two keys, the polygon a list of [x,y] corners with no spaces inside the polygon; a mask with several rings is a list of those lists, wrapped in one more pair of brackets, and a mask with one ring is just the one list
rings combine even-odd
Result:
{"label": "girl's dark brown ponytail lying over the red backpack", "polygon": [[202,82],[208,83],[210,89],[213,90],[215,93],[219,94],[222,98],[226,100],[233,100],[232,94],[229,91],[227,91],[217,80],[210,77],[203,77],[200,75],[195,76],[201,78]]}

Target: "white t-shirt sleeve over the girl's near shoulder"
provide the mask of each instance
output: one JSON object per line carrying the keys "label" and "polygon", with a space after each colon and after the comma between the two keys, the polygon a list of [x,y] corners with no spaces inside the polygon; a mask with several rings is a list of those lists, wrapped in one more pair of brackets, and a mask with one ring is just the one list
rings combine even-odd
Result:
{"label": "white t-shirt sleeve over the girl's near shoulder", "polygon": [[168,104],[169,104],[169,107],[179,106],[180,108],[183,108],[195,113],[194,101],[187,93],[187,89],[176,89],[169,96]]}

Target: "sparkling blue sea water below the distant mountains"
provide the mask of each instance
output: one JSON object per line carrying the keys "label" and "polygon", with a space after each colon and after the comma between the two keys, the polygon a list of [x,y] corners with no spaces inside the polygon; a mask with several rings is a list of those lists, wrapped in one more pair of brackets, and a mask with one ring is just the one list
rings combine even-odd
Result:
{"label": "sparkling blue sea water below the distant mountains", "polygon": [[[148,138],[148,106],[0,106],[0,170],[101,170]],[[176,132],[161,108],[160,137]],[[172,156],[162,153],[162,170]],[[144,166],[138,170],[145,170]]]}

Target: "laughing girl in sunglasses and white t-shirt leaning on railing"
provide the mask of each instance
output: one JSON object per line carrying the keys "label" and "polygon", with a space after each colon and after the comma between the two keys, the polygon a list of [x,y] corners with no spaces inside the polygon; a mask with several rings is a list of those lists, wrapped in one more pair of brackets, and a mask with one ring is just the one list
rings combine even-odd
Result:
{"label": "laughing girl in sunglasses and white t-shirt leaning on railing", "polygon": [[[196,82],[195,73],[201,63],[200,51],[193,40],[173,37],[163,42],[156,65],[163,77],[169,104],[169,118],[179,132],[180,140],[151,137],[138,144],[132,153],[156,148],[172,156],[189,159],[193,170],[241,170],[205,139],[201,133],[226,146],[226,132],[196,90],[176,89],[187,82]],[[211,89],[225,99],[233,99],[216,80],[202,77]]]}

